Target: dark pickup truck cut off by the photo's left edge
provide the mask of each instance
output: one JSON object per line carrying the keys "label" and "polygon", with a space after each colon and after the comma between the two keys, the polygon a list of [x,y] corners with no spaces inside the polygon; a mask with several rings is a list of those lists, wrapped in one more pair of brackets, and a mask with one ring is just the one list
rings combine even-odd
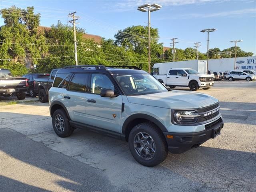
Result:
{"label": "dark pickup truck cut off by the photo's left edge", "polygon": [[28,81],[26,78],[12,77],[7,69],[0,69],[0,96],[10,97],[16,95],[19,100],[26,97]]}

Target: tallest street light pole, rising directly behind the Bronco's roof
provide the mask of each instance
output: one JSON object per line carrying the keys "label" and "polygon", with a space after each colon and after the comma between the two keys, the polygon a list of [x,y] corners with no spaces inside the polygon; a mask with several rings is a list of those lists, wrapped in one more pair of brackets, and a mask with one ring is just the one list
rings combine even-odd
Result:
{"label": "tallest street light pole, rising directly behind the Bronco's roof", "polygon": [[139,11],[148,12],[148,73],[150,73],[150,64],[151,64],[151,37],[150,37],[150,12],[160,10],[162,6],[158,4],[144,4],[142,6],[138,6]]}

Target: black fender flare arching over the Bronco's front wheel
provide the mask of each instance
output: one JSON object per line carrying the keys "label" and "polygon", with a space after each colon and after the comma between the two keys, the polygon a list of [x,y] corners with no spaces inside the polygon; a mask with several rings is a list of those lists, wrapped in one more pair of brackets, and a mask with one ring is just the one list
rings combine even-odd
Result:
{"label": "black fender flare arching over the Bronco's front wheel", "polygon": [[151,121],[154,124],[156,124],[162,131],[168,132],[166,127],[156,118],[154,118],[150,115],[147,115],[147,114],[133,114],[124,121],[124,124],[122,126],[122,134],[125,134],[125,130],[126,130],[128,124],[135,119],[146,119],[146,120]]}

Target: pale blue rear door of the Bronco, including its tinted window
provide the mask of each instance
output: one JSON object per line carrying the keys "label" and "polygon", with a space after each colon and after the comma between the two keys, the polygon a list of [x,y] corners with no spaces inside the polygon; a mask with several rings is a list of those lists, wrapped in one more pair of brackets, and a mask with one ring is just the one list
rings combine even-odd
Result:
{"label": "pale blue rear door of the Bronco, including its tinted window", "polygon": [[[66,79],[68,78],[70,78],[69,75]],[[66,88],[62,92],[62,102],[66,106],[71,120],[80,123],[86,123],[85,106],[86,96],[89,92],[88,78],[89,74],[87,73],[75,73],[68,85],[66,85],[68,80],[64,80],[58,86],[58,88]]]}

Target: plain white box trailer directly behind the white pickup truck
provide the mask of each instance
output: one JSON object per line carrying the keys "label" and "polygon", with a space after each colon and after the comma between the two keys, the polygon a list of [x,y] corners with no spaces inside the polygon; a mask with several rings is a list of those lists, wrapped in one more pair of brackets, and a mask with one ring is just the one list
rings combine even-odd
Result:
{"label": "plain white box trailer directly behind the white pickup truck", "polygon": [[155,63],[153,66],[154,74],[166,75],[171,68],[192,68],[197,70],[200,74],[206,74],[207,61],[206,60],[190,60],[190,61],[176,61],[166,63]]}

